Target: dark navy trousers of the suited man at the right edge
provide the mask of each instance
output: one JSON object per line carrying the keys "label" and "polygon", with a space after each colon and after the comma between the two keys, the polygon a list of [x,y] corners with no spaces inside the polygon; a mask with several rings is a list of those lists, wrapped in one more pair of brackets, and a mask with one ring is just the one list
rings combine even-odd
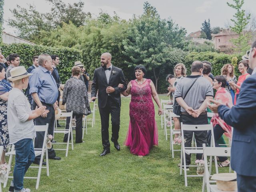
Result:
{"label": "dark navy trousers of the suited man at the right edge", "polygon": [[237,191],[238,192],[255,192],[256,191],[256,177],[244,176],[236,173],[237,177]]}

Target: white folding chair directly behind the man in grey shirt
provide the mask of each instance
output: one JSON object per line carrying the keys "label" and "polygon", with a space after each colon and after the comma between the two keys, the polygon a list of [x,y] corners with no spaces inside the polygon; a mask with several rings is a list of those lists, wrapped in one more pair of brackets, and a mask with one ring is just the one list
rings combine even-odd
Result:
{"label": "white folding chair directly behind the man in grey shirt", "polygon": [[[180,152],[180,175],[182,175],[182,168],[184,168],[184,176],[185,176],[185,186],[188,186],[188,180],[187,177],[200,177],[202,175],[187,175],[187,167],[196,167],[196,165],[186,165],[186,155],[185,154],[197,154],[197,153],[203,153],[202,147],[185,147],[184,143],[184,131],[211,131],[211,146],[215,146],[214,143],[214,132],[211,124],[205,124],[205,125],[185,125],[181,123],[181,137],[182,137],[182,144],[181,144],[181,152]],[[183,159],[183,165],[182,165],[182,159]],[[218,173],[218,167],[217,167],[217,158],[214,157],[215,162],[215,169],[216,173]],[[212,156],[210,157],[210,173],[212,169]]]}

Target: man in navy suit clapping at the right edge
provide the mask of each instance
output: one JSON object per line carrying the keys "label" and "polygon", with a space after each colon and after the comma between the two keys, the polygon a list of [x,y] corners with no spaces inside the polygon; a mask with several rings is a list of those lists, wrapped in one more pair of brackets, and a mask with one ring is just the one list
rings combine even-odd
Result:
{"label": "man in navy suit clapping at the right edge", "polygon": [[253,69],[240,89],[237,103],[232,108],[211,100],[209,108],[234,127],[231,147],[231,167],[237,174],[239,192],[256,192],[256,41],[249,54]]}

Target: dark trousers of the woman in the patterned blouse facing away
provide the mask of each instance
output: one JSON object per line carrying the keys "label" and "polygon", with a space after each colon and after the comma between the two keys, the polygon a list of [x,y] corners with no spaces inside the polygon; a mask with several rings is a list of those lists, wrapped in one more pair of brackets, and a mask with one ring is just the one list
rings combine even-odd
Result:
{"label": "dark trousers of the woman in the patterned blouse facing away", "polygon": [[[70,112],[70,111],[67,111]],[[75,114],[73,113],[73,117],[72,118],[76,118],[76,143],[82,143],[82,122],[83,122],[83,114]],[[67,117],[66,119],[66,129],[69,129],[69,122],[70,122],[70,117]],[[71,136],[70,136],[71,139]],[[68,133],[66,133],[64,135],[64,142],[68,142]]]}

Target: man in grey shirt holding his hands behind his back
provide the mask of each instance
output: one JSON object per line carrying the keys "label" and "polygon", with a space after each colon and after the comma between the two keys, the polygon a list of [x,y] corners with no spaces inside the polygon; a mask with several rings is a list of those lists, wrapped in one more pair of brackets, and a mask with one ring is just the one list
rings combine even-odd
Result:
{"label": "man in grey shirt holding his hands behind his back", "polygon": [[[213,98],[213,90],[210,82],[202,77],[203,67],[202,62],[194,61],[191,65],[191,75],[180,80],[176,86],[174,98],[181,106],[180,122],[183,124],[208,124],[206,103]],[[184,95],[194,81],[196,82],[183,100]],[[202,144],[206,143],[206,134],[206,131],[194,132],[198,147],[202,147]],[[184,131],[185,147],[191,147],[192,137],[192,131]],[[196,159],[202,159],[202,154],[196,154]],[[189,165],[190,163],[190,155],[186,154],[186,164]]]}

